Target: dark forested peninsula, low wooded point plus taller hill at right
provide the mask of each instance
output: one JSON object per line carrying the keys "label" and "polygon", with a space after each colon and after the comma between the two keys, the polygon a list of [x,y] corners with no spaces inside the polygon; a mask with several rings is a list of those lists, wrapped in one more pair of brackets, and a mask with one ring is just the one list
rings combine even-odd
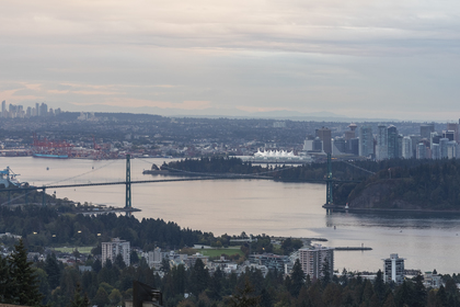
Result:
{"label": "dark forested peninsula, low wooded point plus taller hill at right", "polygon": [[[281,182],[325,183],[327,166],[253,166],[238,158],[185,159],[161,166],[173,173],[263,175]],[[452,159],[334,160],[334,203],[359,209],[460,212],[460,163]]]}

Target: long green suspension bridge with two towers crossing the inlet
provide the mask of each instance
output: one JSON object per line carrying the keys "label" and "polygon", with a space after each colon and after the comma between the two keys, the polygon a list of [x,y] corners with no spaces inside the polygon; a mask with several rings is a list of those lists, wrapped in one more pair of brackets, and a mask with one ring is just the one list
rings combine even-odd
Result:
{"label": "long green suspension bridge with two towers crossing the inlet", "polygon": [[[347,161],[343,161],[343,162],[349,164],[350,167],[355,167],[357,169],[360,169],[361,171],[372,173],[368,170],[359,168],[359,167],[357,167],[353,163],[349,163]],[[148,162],[148,163],[151,163],[151,162]],[[202,173],[202,172],[182,171],[186,175],[187,174],[193,174],[194,177],[180,178],[180,179],[131,180],[131,158],[130,158],[130,155],[126,155],[126,167],[125,167],[126,178],[125,178],[125,180],[112,181],[112,182],[87,182],[87,183],[73,183],[73,184],[59,184],[58,183],[58,184],[46,184],[46,185],[42,185],[42,186],[34,186],[34,185],[24,186],[23,185],[21,187],[5,187],[5,189],[0,190],[0,192],[8,193],[8,201],[4,202],[1,205],[11,204],[12,201],[14,201],[19,197],[24,197],[25,204],[27,204],[27,194],[31,193],[32,191],[42,191],[42,204],[46,205],[46,190],[66,189],[66,187],[102,186],[102,185],[125,185],[125,206],[123,208],[118,208],[118,211],[129,213],[129,212],[139,211],[139,209],[133,207],[133,202],[131,202],[131,198],[133,198],[131,185],[133,184],[181,182],[181,181],[182,182],[183,181],[203,181],[203,180],[220,180],[220,179],[273,180],[273,177],[267,175],[267,173],[275,172],[275,171],[283,171],[283,170],[287,170],[287,169],[290,169],[290,168],[277,169],[277,170],[274,170],[274,171],[267,171],[267,172],[256,173],[256,174]],[[175,170],[175,171],[181,171],[181,170]],[[2,171],[2,172],[4,174],[4,171]],[[89,172],[85,172],[85,173],[82,173],[82,174],[87,174],[87,173],[89,173]],[[80,174],[80,175],[82,175],[82,174]],[[13,174],[13,175],[15,175],[15,174]],[[77,175],[77,177],[80,177],[80,175]],[[73,178],[77,178],[77,177],[73,177]],[[70,179],[72,179],[72,178],[70,178]],[[315,183],[318,183],[319,181],[323,181],[323,182],[326,183],[326,202],[323,206],[326,209],[337,208],[337,206],[334,205],[334,201],[333,201],[334,184],[336,184],[337,182],[357,182],[357,181],[353,181],[353,180],[336,180],[336,179],[333,178],[331,155],[327,155],[327,172],[326,172],[325,179],[323,179],[323,180],[304,180],[302,182],[315,182]],[[0,182],[0,184],[2,182]],[[15,193],[23,192],[23,193],[22,193],[21,196],[18,196],[14,200],[12,200],[11,198],[11,193],[12,192],[15,192]]]}

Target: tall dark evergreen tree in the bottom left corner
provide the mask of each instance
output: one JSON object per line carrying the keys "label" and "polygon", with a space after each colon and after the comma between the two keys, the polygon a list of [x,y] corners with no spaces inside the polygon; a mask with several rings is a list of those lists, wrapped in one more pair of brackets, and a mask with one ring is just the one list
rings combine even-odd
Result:
{"label": "tall dark evergreen tree in the bottom left corner", "polygon": [[27,261],[27,251],[20,239],[10,255],[11,296],[13,304],[41,306],[42,294],[38,292],[38,282],[32,263]]}

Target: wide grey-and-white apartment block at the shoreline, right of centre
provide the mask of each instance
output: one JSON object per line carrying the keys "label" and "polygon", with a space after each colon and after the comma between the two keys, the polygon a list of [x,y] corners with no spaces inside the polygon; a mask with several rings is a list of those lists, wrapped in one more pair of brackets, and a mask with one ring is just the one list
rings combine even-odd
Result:
{"label": "wide grey-and-white apartment block at the shoreline, right of centre", "polygon": [[312,248],[299,249],[299,262],[306,275],[310,280],[324,276],[324,273],[332,277],[334,272],[334,249],[314,245]]}

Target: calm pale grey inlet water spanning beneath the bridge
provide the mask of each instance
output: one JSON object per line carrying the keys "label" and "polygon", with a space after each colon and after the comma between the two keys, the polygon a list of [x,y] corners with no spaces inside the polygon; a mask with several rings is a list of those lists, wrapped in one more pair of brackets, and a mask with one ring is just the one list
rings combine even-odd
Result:
{"label": "calm pale grey inlet water spanning beneath the bridge", "polygon": [[[166,160],[168,161],[168,160]],[[163,159],[131,160],[131,180],[163,179],[142,175],[150,163]],[[22,181],[34,185],[124,181],[125,161],[0,158]],[[105,166],[105,167],[104,167]],[[49,170],[46,170],[49,168]],[[94,170],[93,170],[94,168]],[[64,181],[65,179],[72,180]],[[168,177],[168,179],[173,179]],[[335,268],[377,271],[390,253],[405,258],[405,266],[458,273],[460,215],[345,214],[327,215],[321,207],[325,185],[265,180],[215,180],[133,184],[138,218],[162,218],[181,227],[238,235],[326,238],[324,246],[371,247],[371,251],[336,251]],[[47,191],[53,193],[54,191]],[[77,202],[124,206],[125,186],[57,189],[58,197]],[[336,229],[334,229],[334,226]]]}

